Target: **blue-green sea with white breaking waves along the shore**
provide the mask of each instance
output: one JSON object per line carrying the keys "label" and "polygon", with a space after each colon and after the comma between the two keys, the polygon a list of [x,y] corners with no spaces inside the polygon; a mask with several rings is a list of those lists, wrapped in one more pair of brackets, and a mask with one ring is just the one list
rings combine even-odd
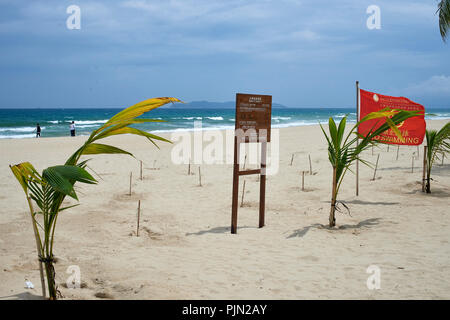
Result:
{"label": "blue-green sea with white breaking waves along the shore", "polygon": [[[118,108],[67,109],[0,109],[0,139],[22,139],[36,136],[36,125],[41,137],[70,136],[69,125],[75,122],[77,135],[89,135],[113,115]],[[272,128],[316,125],[336,121],[348,116],[356,121],[355,108],[273,108]],[[232,108],[158,108],[143,115],[145,118],[164,120],[135,125],[152,133],[193,130],[194,121],[201,121],[203,130],[233,129],[235,110]],[[450,119],[450,107],[428,108],[426,119]]]}

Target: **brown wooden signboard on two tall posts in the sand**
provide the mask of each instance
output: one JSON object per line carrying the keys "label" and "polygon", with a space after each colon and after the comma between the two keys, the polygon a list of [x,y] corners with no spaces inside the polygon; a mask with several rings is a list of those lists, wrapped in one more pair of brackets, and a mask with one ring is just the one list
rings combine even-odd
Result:
{"label": "brown wooden signboard on two tall posts in the sand", "polygon": [[[233,199],[231,205],[231,233],[237,232],[237,211],[239,176],[260,175],[259,188],[259,227],[264,227],[266,199],[266,157],[267,142],[270,142],[272,117],[272,96],[256,94],[236,94],[236,125],[234,137]],[[239,169],[241,143],[261,143],[261,168],[255,170]]]}

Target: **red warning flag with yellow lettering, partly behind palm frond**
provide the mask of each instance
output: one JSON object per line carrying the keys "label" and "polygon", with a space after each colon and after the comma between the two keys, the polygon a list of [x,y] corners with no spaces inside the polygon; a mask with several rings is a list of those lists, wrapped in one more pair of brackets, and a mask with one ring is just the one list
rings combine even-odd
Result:
{"label": "red warning flag with yellow lettering, partly behind palm frond", "polygon": [[[400,130],[403,138],[402,142],[397,135],[388,129],[381,135],[377,136],[375,140],[387,143],[387,144],[399,144],[399,145],[419,145],[422,144],[423,138],[425,136],[425,108],[409,100],[405,97],[391,97],[384,96],[378,93],[365,91],[360,89],[360,119],[364,118],[371,112],[380,111],[385,108],[391,109],[401,109],[407,111],[420,111],[418,116],[409,118],[401,122],[397,127]],[[366,136],[371,130],[378,128],[384,123],[380,119],[372,119],[361,123],[358,126],[358,132]],[[375,127],[374,127],[375,126]]]}

